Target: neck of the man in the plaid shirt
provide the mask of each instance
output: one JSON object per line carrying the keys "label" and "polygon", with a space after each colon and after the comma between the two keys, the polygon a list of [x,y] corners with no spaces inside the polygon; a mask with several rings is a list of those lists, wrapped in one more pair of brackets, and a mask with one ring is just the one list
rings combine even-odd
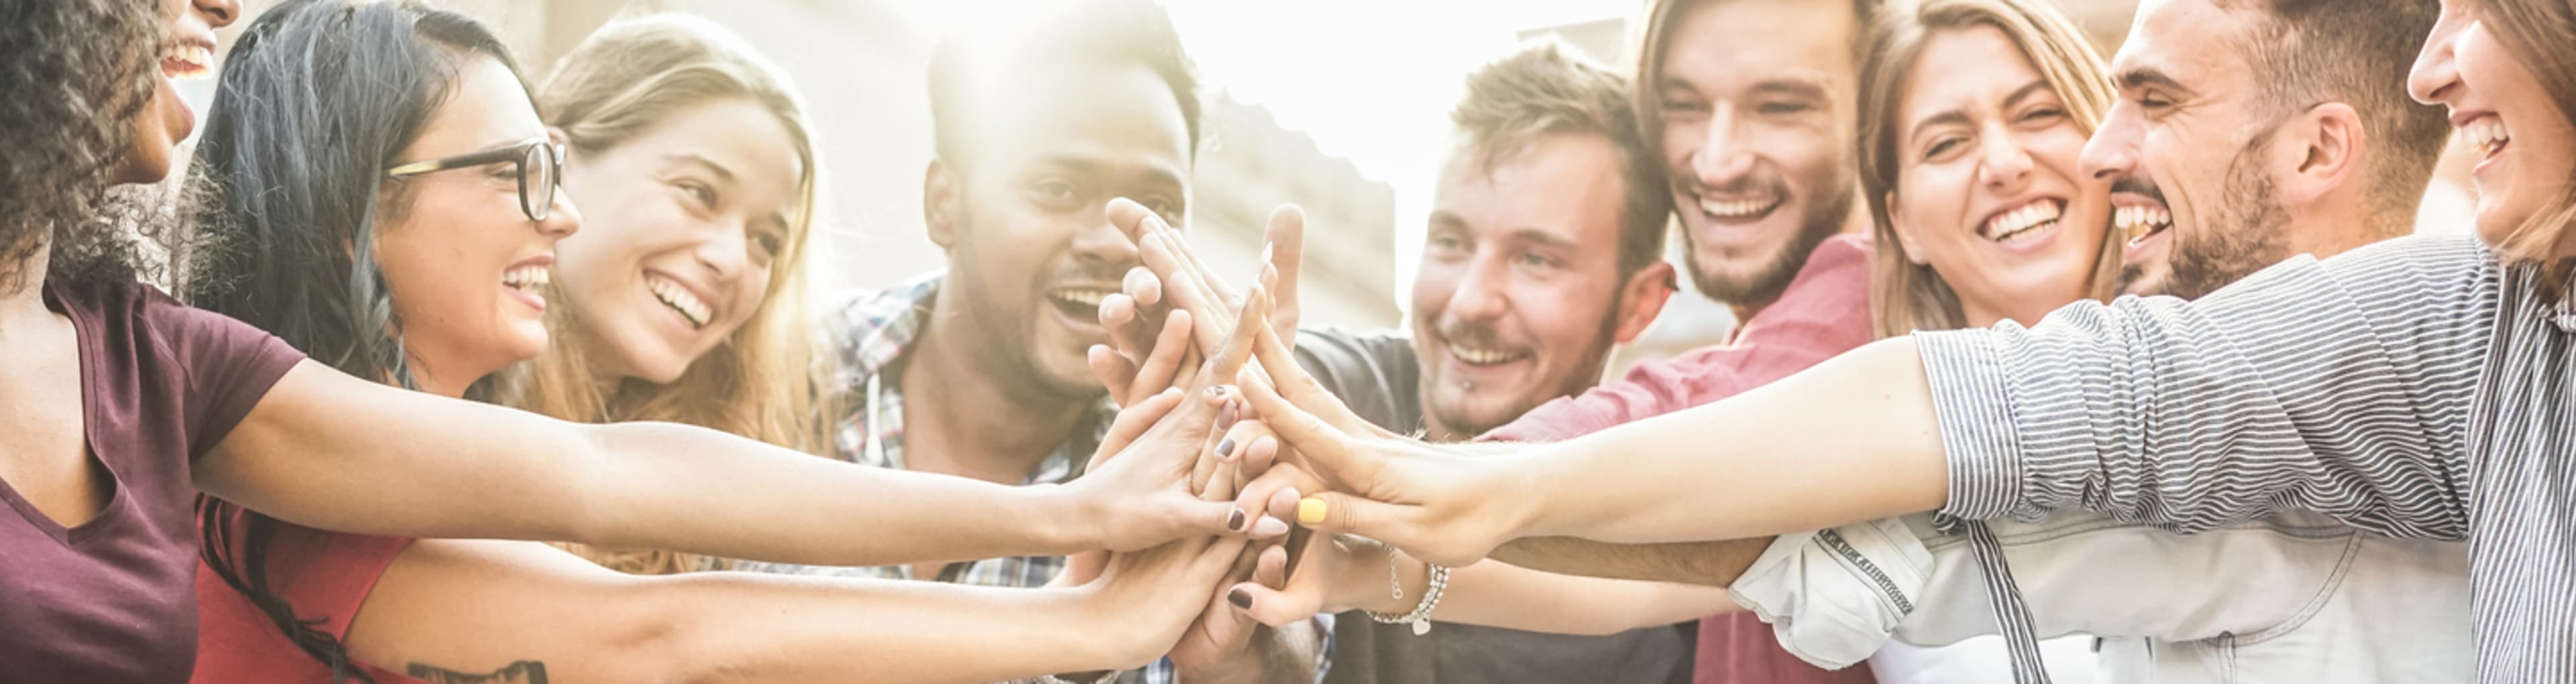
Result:
{"label": "neck of the man in the plaid shirt", "polygon": [[992,373],[969,345],[930,342],[976,339],[945,321],[966,316],[933,311],[904,363],[904,468],[1020,483],[1082,424],[1092,399],[1064,399],[1036,388],[1033,378]]}

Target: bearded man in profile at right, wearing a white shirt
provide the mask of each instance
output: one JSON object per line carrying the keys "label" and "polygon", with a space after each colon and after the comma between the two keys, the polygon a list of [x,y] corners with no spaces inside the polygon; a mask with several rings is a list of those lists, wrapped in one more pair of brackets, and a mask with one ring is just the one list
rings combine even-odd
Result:
{"label": "bearded man in profile at right, wearing a white shirt", "polygon": [[[2112,64],[2120,103],[2084,147],[2130,239],[2125,291],[2197,298],[2290,255],[2409,234],[2447,121],[2406,98],[2432,0],[2151,0]],[[2254,64],[2246,69],[2244,64]],[[2169,535],[2089,512],[1989,522],[1976,540],[1904,519],[1783,535],[1731,589],[1821,663],[1891,635],[2099,635],[2105,681],[2468,681],[2468,548],[2388,540],[2324,514]],[[1994,602],[1991,602],[1994,599]],[[1855,620],[1857,617],[1857,620]]]}

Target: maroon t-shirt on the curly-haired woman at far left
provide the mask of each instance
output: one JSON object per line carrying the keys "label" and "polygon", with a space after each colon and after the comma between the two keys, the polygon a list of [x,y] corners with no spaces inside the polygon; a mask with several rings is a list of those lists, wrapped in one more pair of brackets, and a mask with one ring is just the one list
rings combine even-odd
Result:
{"label": "maroon t-shirt on the curly-haired woman at far left", "polygon": [[64,530],[0,483],[0,681],[185,681],[198,548],[188,465],[304,355],[142,283],[46,285],[44,303],[80,337],[82,432],[116,491]]}

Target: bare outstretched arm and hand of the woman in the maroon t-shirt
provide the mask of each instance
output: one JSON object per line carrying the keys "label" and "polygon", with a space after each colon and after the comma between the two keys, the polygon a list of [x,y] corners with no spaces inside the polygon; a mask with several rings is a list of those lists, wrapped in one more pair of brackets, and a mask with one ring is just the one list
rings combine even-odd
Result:
{"label": "bare outstretched arm and hand of the woman in the maroon t-shirt", "polygon": [[[1200,373],[1195,391],[1231,378],[1249,337],[1236,350],[1211,360],[1224,373]],[[1208,401],[1182,401],[1128,445],[1128,458],[1079,481],[999,486],[860,468],[701,427],[569,424],[301,363],[198,458],[196,478],[286,522],[368,535],[574,540],[814,566],[1064,555],[1247,527],[1229,525],[1226,501],[1190,489],[1213,419]]]}

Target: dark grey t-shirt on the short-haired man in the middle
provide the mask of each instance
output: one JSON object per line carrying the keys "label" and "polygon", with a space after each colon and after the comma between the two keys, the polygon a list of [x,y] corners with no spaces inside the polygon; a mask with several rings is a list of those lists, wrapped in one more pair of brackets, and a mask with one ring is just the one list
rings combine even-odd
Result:
{"label": "dark grey t-shirt on the short-haired man in the middle", "polygon": [[[1340,329],[1298,332],[1296,360],[1352,414],[1401,435],[1422,432],[1422,363],[1412,339]],[[1687,684],[1695,625],[1618,635],[1546,635],[1448,625],[1414,635],[1363,612],[1332,620],[1327,684],[1414,681],[1633,681]]]}

